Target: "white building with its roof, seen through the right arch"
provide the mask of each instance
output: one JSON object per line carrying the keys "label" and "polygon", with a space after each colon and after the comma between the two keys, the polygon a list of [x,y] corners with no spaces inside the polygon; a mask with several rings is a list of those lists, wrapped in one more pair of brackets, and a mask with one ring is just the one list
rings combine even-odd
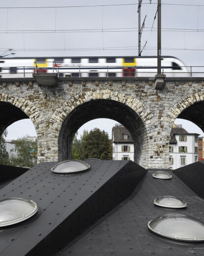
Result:
{"label": "white building with its roof, seen through the right arch", "polygon": [[188,133],[181,125],[173,125],[170,137],[170,169],[195,163],[199,159],[198,133]]}

